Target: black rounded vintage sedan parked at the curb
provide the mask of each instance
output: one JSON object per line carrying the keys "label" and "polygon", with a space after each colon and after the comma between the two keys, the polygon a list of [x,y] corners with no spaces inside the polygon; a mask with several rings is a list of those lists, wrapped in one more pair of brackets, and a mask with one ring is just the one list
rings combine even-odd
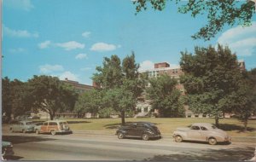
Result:
{"label": "black rounded vintage sedan parked at the curb", "polygon": [[122,125],[119,130],[116,130],[116,135],[119,139],[130,136],[143,138],[145,141],[149,138],[161,138],[160,130],[149,122],[135,122]]}

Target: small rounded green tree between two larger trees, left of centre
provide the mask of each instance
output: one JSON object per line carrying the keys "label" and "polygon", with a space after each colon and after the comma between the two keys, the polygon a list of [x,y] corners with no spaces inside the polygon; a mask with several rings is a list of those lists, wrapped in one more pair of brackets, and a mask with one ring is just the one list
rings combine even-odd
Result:
{"label": "small rounded green tree between two larger trees, left of centre", "polygon": [[101,90],[88,90],[79,95],[74,111],[83,116],[84,113],[98,113],[102,109],[103,93]]}

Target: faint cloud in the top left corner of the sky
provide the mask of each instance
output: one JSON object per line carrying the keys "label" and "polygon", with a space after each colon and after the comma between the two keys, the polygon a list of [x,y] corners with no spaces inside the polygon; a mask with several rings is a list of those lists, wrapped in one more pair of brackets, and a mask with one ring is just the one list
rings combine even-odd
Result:
{"label": "faint cloud in the top left corner of the sky", "polygon": [[3,1],[3,5],[12,9],[22,9],[25,11],[30,11],[34,8],[30,0],[5,0]]}

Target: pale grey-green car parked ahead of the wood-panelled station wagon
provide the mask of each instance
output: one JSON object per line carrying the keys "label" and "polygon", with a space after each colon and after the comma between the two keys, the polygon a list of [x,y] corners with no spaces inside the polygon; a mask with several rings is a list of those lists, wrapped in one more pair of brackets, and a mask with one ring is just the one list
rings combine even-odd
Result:
{"label": "pale grey-green car parked ahead of the wood-panelled station wagon", "polygon": [[34,131],[36,124],[33,124],[32,121],[19,121],[16,124],[12,124],[9,128],[11,132],[21,131],[23,133]]}

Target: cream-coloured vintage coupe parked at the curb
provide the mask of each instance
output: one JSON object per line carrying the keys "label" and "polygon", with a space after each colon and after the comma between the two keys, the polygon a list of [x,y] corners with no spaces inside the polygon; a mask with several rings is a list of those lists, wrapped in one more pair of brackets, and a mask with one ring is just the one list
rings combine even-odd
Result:
{"label": "cream-coloured vintage coupe parked at the curb", "polygon": [[177,128],[173,132],[173,138],[176,142],[187,140],[209,142],[211,145],[215,145],[217,142],[231,142],[231,136],[228,136],[224,130],[208,123],[195,123],[190,125],[189,128]]}

